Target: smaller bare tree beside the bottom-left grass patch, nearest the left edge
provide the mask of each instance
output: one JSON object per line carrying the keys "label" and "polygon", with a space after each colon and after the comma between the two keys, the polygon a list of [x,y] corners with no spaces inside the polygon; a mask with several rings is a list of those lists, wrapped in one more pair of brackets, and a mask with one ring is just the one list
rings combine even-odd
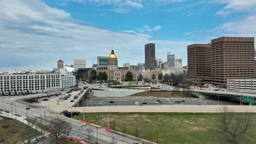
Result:
{"label": "smaller bare tree beside the bottom-left grass patch, nearest the left edge", "polygon": [[34,129],[35,125],[30,123],[29,119],[28,119],[28,125],[24,125],[24,124],[19,124],[18,127],[20,129],[21,132],[21,139],[24,143],[32,143],[32,140],[36,138],[37,136],[37,130]]}

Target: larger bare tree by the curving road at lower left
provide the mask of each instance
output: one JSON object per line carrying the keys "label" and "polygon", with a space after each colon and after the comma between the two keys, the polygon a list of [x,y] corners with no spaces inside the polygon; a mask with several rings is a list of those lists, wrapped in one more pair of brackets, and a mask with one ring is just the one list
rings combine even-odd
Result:
{"label": "larger bare tree by the curving road at lower left", "polygon": [[71,130],[72,127],[69,122],[58,118],[54,118],[50,121],[49,131],[52,134],[51,137],[53,137],[53,140],[56,144],[62,136],[68,135]]}

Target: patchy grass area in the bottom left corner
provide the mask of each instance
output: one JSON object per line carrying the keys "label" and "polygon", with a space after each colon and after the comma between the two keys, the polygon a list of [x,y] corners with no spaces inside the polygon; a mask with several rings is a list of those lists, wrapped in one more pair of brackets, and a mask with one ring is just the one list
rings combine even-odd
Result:
{"label": "patchy grass area in the bottom left corner", "polygon": [[[5,125],[9,127],[4,128]],[[14,119],[4,118],[0,120],[0,141],[4,140],[2,143],[17,143],[21,141],[21,131],[19,131],[18,125],[25,125]]]}

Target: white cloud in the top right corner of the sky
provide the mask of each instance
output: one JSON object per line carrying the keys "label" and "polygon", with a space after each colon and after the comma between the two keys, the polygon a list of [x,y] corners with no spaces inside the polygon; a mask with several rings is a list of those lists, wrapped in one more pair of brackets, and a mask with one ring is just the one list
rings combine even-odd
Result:
{"label": "white cloud in the top right corner of the sky", "polygon": [[228,15],[234,12],[255,11],[255,0],[218,0],[214,3],[227,4],[222,10],[217,11],[216,15]]}

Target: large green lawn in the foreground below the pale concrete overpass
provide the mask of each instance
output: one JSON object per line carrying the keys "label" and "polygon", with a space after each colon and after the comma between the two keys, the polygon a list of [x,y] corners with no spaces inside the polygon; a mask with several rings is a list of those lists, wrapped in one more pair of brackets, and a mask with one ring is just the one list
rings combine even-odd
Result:
{"label": "large green lawn in the foreground below the pale concrete overpass", "polygon": [[[97,118],[100,116],[100,118]],[[86,113],[85,121],[108,125],[107,113]],[[112,121],[117,122],[117,130],[142,139],[156,142],[156,130],[158,129],[159,143],[231,143],[231,136],[219,133],[214,122],[217,113],[109,113]],[[254,119],[256,114],[253,114]],[[83,119],[80,113],[75,119]],[[138,134],[138,133],[137,133]],[[255,143],[256,129],[250,134],[237,137],[239,143]]]}

